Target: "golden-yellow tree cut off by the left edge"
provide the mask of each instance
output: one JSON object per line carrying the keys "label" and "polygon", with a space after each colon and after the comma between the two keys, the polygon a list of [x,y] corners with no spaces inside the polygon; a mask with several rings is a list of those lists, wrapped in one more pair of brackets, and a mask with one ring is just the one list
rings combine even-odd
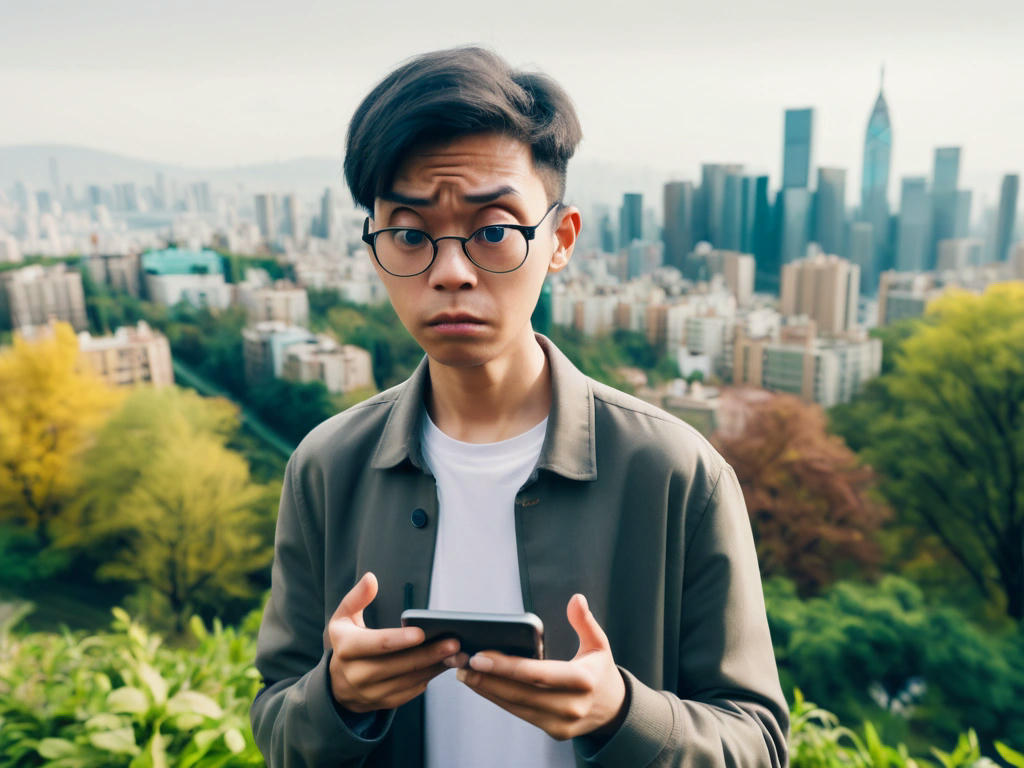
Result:
{"label": "golden-yellow tree cut off by the left edge", "polygon": [[86,370],[71,326],[0,351],[0,522],[49,543],[78,460],[120,393]]}

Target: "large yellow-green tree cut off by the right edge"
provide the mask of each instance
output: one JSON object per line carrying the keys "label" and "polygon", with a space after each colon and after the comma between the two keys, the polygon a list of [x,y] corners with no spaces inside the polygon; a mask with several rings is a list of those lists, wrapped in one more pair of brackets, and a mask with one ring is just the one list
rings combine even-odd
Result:
{"label": "large yellow-green tree cut off by the right edge", "polygon": [[900,522],[1024,618],[1024,283],[933,302],[879,386],[862,456]]}

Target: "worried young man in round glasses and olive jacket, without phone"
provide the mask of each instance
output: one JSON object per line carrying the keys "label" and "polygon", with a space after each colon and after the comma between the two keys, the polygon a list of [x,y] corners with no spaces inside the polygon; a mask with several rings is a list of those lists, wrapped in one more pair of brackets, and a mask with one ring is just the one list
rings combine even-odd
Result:
{"label": "worried young man in round glasses and olive jacket, without phone", "polygon": [[[530,327],[580,232],[580,137],[555,83],[477,48],[352,119],[368,255],[426,356],[289,462],[252,708],[271,766],[787,762],[735,475]],[[426,644],[407,607],[534,611],[546,660]]]}

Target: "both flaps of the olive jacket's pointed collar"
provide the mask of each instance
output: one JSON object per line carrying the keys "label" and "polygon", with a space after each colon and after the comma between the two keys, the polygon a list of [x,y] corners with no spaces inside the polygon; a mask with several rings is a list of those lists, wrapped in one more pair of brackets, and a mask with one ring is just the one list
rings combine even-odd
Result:
{"label": "both flaps of the olive jacket's pointed collar", "polygon": [[[536,336],[548,357],[552,395],[548,431],[538,469],[547,469],[572,480],[593,480],[597,477],[597,450],[590,380],[548,337]],[[394,404],[372,461],[375,469],[390,469],[406,460],[421,469],[424,467],[420,452],[420,419],[429,380],[424,356],[413,375],[393,390]]]}

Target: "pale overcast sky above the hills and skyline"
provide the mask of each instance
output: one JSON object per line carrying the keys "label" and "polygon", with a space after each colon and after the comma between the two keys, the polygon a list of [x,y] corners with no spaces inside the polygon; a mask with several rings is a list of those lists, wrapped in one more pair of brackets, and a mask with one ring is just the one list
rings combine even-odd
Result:
{"label": "pale overcast sky above the hills and skyline", "polygon": [[680,178],[697,177],[701,162],[742,162],[777,185],[782,111],[811,105],[815,165],[847,168],[852,191],[884,61],[895,179],[929,174],[938,145],[964,147],[964,182],[985,187],[976,200],[994,201],[997,174],[1024,172],[1021,0],[0,8],[0,144],[74,143],[193,166],[340,157],[358,99],[396,63],[482,43],[562,83],[586,160]]}

